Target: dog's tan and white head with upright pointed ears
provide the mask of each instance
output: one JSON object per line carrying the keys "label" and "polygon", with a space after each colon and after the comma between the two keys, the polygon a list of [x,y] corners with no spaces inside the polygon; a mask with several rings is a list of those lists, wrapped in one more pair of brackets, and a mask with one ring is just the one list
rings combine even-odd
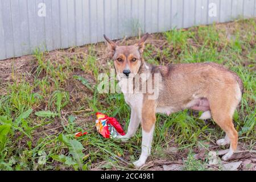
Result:
{"label": "dog's tan and white head with upright pointed ears", "polygon": [[137,75],[139,68],[144,61],[142,53],[148,35],[149,34],[146,33],[139,42],[133,46],[118,46],[104,35],[118,75],[127,78]]}

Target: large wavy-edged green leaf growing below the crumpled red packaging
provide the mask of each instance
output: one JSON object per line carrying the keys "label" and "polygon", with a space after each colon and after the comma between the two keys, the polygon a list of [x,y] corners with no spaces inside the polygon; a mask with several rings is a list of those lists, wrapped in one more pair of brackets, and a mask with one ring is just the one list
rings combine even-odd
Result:
{"label": "large wavy-edged green leaf growing below the crumpled red packaging", "polygon": [[62,134],[59,135],[59,140],[68,147],[69,154],[73,156],[73,159],[77,162],[77,164],[79,164],[80,169],[82,169],[82,158],[84,157],[84,154],[82,153],[84,147],[82,144],[75,139],[69,140]]}

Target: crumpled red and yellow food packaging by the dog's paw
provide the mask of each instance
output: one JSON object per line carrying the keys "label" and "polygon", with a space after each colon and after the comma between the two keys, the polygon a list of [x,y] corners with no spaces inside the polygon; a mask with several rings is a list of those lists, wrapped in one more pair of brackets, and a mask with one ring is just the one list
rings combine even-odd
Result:
{"label": "crumpled red and yellow food packaging by the dog's paw", "polygon": [[96,128],[104,138],[115,138],[117,135],[125,135],[117,119],[108,117],[106,114],[96,113]]}

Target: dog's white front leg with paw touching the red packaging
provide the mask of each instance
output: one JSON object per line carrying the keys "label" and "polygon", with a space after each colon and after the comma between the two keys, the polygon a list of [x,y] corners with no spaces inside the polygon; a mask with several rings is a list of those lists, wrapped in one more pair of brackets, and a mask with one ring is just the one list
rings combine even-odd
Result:
{"label": "dog's white front leg with paw touching the red packaging", "polygon": [[120,138],[122,141],[127,141],[129,138],[133,137],[138,129],[139,126],[139,118],[136,110],[132,107],[131,108],[131,117],[130,117],[130,123],[128,126],[128,130],[126,135],[118,135],[117,138]]}

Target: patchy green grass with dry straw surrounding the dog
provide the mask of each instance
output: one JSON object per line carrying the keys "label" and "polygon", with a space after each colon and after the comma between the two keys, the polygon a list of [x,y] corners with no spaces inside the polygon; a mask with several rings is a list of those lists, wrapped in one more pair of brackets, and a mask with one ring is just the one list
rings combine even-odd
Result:
{"label": "patchy green grass with dry straw surrounding the dog", "polygon": [[[192,27],[154,34],[144,58],[164,65],[213,61],[237,72],[245,93],[234,115],[239,144],[255,150],[255,23],[256,19]],[[127,40],[135,43],[137,38]],[[94,126],[101,111],[118,118],[125,131],[130,107],[120,93],[97,92],[99,73],[113,68],[105,45],[98,43],[53,52],[35,51],[29,64],[7,77],[0,75],[0,169],[90,170],[134,169],[130,162],[141,152],[141,131],[127,143],[104,139]],[[6,62],[7,62],[6,61]],[[0,62],[1,63],[1,62]],[[224,132],[201,113],[184,110],[171,116],[158,114],[152,155],[143,169],[181,160],[184,170],[207,170],[207,161],[193,158],[200,143],[207,151]],[[88,134],[75,138],[75,133]],[[170,151],[175,147],[177,151]]]}

